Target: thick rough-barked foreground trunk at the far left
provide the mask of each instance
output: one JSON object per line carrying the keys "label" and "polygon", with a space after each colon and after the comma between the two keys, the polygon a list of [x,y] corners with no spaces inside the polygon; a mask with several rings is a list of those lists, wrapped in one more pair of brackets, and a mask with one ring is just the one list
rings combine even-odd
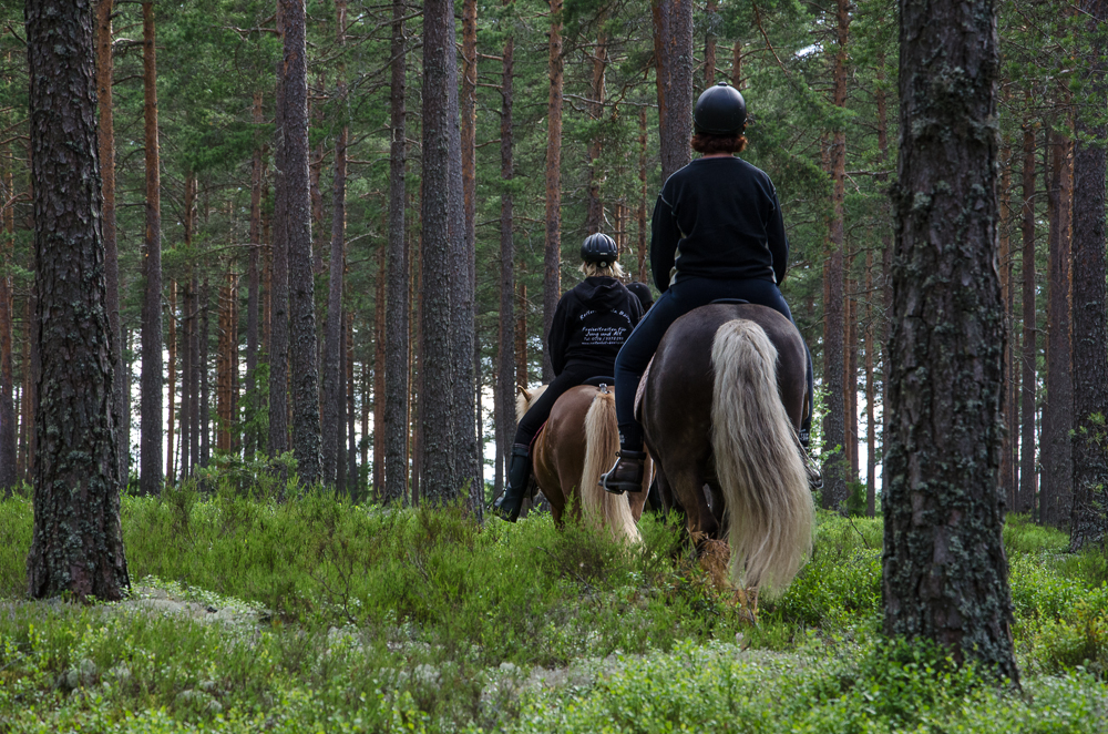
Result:
{"label": "thick rough-barked foreground trunk at the far left", "polygon": [[29,0],[24,13],[41,298],[28,591],[35,599],[68,592],[117,600],[131,582],[120,524],[92,6]]}

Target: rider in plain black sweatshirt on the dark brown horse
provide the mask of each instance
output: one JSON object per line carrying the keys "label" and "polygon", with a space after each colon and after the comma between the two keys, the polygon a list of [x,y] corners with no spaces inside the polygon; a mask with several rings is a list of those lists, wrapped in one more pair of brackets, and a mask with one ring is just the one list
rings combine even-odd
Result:
{"label": "rider in plain black sweatshirt on the dark brown horse", "polygon": [[[602,478],[609,492],[642,486],[646,453],[635,393],[670,324],[721,298],[768,306],[792,320],[778,287],[788,267],[789,241],[777,191],[766,173],[732,155],[746,147],[746,120],[742,95],[726,82],[701,94],[693,114],[693,150],[704,157],[669,176],[654,207],[650,264],[661,296],[616,358],[620,451]],[[808,408],[800,432],[806,447],[811,404],[809,355]]]}

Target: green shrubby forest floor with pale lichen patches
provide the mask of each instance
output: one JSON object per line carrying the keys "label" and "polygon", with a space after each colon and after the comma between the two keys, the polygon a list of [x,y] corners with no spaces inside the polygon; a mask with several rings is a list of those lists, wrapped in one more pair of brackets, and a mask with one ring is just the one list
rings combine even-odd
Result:
{"label": "green shrubby forest floor with pale lichen patches", "polygon": [[1022,518],[1017,689],[880,634],[880,519],[821,516],[752,625],[652,517],[626,549],[230,486],[123,514],[129,599],[31,602],[30,501],[0,502],[0,734],[1108,731],[1108,561]]}

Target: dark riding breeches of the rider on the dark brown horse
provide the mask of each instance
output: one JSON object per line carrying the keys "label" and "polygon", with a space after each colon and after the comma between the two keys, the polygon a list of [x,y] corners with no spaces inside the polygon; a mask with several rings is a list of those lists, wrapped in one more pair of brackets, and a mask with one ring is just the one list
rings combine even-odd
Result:
{"label": "dark riding breeches of the rider on the dark brown horse", "polygon": [[[742,281],[715,281],[710,278],[687,278],[669,286],[646,312],[616,357],[616,416],[619,421],[620,446],[629,451],[643,450],[643,427],[635,420],[635,393],[639,379],[658,349],[666,329],[678,318],[694,308],[707,306],[720,298],[742,298],[751,304],[767,306],[778,312],[793,325],[792,312],[781,296],[781,290],[771,281],[757,278]],[[804,345],[808,350],[808,345]],[[811,424],[812,404],[812,355],[808,351],[808,411],[804,424]]]}

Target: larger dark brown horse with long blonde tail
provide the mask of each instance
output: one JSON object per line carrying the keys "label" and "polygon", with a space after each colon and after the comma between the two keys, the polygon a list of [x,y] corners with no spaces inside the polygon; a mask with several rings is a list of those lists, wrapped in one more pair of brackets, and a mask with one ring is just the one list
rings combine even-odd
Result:
{"label": "larger dark brown horse with long blonde tail", "polygon": [[674,322],[643,377],[639,415],[663,502],[684,511],[693,538],[718,539],[726,527],[731,578],[771,594],[811,548],[814,509],[796,438],[806,369],[784,316],[714,304]]}

